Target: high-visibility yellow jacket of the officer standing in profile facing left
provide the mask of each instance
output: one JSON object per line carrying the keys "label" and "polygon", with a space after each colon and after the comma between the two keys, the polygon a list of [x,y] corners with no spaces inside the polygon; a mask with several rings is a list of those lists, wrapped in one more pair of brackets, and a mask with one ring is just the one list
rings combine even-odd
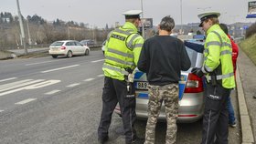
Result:
{"label": "high-visibility yellow jacket of the officer standing in profile facing left", "polygon": [[204,57],[202,71],[207,73],[208,81],[211,80],[209,75],[215,73],[222,87],[235,87],[230,40],[219,25],[213,25],[207,31]]}

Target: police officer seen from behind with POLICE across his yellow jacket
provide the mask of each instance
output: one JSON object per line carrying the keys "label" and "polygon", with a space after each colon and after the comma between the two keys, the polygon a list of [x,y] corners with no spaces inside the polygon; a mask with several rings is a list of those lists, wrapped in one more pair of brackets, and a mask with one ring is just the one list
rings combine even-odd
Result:
{"label": "police officer seen from behind with POLICE across his yellow jacket", "polygon": [[107,38],[105,44],[105,62],[103,64],[104,87],[102,93],[101,121],[98,129],[100,143],[108,139],[108,130],[111,125],[112,112],[117,102],[123,118],[125,143],[142,143],[137,138],[134,129],[135,97],[131,81],[128,81],[129,73],[136,67],[144,38],[138,35],[137,28],[141,24],[141,10],[131,10],[123,13],[125,24],[114,29]]}

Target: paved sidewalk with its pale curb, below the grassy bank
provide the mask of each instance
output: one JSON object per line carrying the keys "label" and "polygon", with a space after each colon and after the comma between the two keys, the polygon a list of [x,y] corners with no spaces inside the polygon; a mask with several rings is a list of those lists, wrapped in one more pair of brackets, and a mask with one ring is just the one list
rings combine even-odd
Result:
{"label": "paved sidewalk with its pale curb, below the grassy bank", "polygon": [[256,66],[240,49],[237,61],[237,92],[240,110],[242,144],[255,142],[256,134]]}

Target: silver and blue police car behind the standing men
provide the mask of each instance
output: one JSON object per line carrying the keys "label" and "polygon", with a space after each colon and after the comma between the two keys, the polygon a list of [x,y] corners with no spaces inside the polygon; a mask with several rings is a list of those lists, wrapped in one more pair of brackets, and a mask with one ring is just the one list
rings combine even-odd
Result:
{"label": "silver and blue police car behind the standing men", "polygon": [[[191,123],[202,118],[204,111],[204,87],[203,78],[191,73],[192,67],[202,67],[203,55],[186,47],[187,54],[191,61],[191,68],[181,71],[179,81],[179,108],[177,122]],[[136,95],[137,118],[146,119],[148,108],[148,91],[145,73],[135,69],[134,86]],[[115,112],[121,115],[117,106]],[[162,105],[159,120],[165,120],[165,106]]]}

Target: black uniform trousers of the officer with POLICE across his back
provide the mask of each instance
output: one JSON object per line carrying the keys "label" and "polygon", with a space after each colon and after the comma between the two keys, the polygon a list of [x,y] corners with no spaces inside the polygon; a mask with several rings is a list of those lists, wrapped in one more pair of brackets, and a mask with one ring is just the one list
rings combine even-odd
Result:
{"label": "black uniform trousers of the officer with POLICE across his back", "polygon": [[108,129],[112,121],[112,112],[119,102],[120,110],[123,118],[123,129],[125,135],[125,143],[132,143],[136,139],[136,131],[134,122],[136,118],[135,97],[127,97],[127,84],[123,80],[113,79],[111,77],[104,78],[104,87],[102,93],[102,111],[101,122],[98,129],[99,139],[108,136]]}

